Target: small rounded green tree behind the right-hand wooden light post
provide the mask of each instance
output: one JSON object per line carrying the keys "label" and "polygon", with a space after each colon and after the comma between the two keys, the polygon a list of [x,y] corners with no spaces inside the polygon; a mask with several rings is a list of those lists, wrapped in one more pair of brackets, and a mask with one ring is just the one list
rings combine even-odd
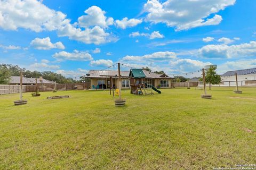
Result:
{"label": "small rounded green tree behind the right-hand wooden light post", "polygon": [[209,88],[211,90],[211,84],[219,84],[221,82],[220,75],[216,73],[217,67],[210,66],[210,68],[206,71],[205,81],[209,83]]}

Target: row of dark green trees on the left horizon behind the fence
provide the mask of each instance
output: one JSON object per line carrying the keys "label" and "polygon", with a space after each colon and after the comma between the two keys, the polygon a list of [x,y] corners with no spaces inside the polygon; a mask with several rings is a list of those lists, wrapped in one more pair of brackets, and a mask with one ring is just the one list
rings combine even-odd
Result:
{"label": "row of dark green trees on the left horizon behind the fence", "polygon": [[27,78],[39,78],[43,77],[46,80],[54,81],[60,84],[66,83],[78,83],[86,82],[88,79],[74,80],[73,78],[66,78],[61,74],[57,74],[51,71],[29,71],[25,68],[21,68],[18,65],[12,64],[0,64],[0,84],[8,84],[10,82],[11,76],[20,76],[20,72],[23,72],[23,76]]}

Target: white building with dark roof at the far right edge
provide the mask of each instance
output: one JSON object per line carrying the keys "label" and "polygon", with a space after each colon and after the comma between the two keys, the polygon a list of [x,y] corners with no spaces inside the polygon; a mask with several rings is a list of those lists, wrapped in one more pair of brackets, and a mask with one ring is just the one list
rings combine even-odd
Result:
{"label": "white building with dark roof at the far right edge", "polygon": [[221,82],[225,86],[236,86],[236,77],[239,86],[255,86],[256,85],[256,68],[228,71],[221,75]]}

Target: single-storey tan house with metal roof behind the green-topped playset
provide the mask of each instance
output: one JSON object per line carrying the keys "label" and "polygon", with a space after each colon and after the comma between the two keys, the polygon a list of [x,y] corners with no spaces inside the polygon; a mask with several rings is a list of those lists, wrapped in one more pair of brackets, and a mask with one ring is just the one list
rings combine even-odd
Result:
{"label": "single-storey tan house with metal roof behind the green-topped playset", "polygon": [[[173,78],[169,77],[166,74],[157,74],[150,71],[142,69],[131,69],[131,70],[141,70],[143,75],[143,81],[148,84],[153,84],[153,86],[160,86],[161,88],[171,88],[171,80]],[[89,75],[90,74],[90,75]],[[129,89],[130,84],[137,83],[130,71],[121,71],[121,80],[122,80],[122,89]],[[88,73],[88,78],[91,79],[91,87],[98,88],[110,88],[110,77],[113,80],[113,87],[118,87],[118,71],[114,70],[90,70]],[[141,80],[142,80],[141,79]],[[141,81],[140,80],[140,81]],[[150,83],[149,83],[150,81]]]}

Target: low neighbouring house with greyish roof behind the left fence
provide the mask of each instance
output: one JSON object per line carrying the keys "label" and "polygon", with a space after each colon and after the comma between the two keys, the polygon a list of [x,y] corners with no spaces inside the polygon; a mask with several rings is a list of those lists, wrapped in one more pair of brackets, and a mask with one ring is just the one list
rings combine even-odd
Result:
{"label": "low neighbouring house with greyish roof behind the left fence", "polygon": [[[37,79],[38,84],[54,84],[53,81],[43,79],[40,77]],[[20,76],[12,76],[9,84],[20,84]],[[24,85],[33,85],[36,84],[36,78],[22,78],[22,84]]]}

